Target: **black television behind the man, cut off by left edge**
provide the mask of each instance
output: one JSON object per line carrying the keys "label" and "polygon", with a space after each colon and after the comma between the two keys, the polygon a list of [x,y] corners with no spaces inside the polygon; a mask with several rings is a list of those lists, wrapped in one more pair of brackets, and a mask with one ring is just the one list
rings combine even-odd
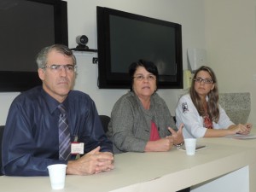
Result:
{"label": "black television behind the man, cut off by left edge", "polygon": [[0,91],[24,91],[38,84],[38,51],[68,45],[67,2],[3,0],[0,3]]}

